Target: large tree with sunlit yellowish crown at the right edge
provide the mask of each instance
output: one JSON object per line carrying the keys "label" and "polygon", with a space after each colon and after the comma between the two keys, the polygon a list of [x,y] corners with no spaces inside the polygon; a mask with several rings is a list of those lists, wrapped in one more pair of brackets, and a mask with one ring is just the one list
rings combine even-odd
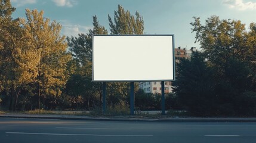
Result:
{"label": "large tree with sunlit yellowish crown at the right edge", "polygon": [[[212,81],[218,97],[218,114],[240,115],[237,107],[244,105],[238,99],[247,98],[246,93],[256,89],[255,24],[251,23],[246,31],[240,20],[220,20],[212,16],[202,25],[199,17],[194,18],[190,24],[192,32],[196,32],[195,42],[201,43],[209,66],[215,71]],[[247,114],[246,111],[243,114]]]}

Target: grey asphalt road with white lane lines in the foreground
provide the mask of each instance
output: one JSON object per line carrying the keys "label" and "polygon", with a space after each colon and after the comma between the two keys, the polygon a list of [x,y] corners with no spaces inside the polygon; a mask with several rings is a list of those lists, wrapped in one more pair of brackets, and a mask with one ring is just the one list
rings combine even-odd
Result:
{"label": "grey asphalt road with white lane lines in the foreground", "polygon": [[0,119],[0,142],[256,142],[256,123]]}

